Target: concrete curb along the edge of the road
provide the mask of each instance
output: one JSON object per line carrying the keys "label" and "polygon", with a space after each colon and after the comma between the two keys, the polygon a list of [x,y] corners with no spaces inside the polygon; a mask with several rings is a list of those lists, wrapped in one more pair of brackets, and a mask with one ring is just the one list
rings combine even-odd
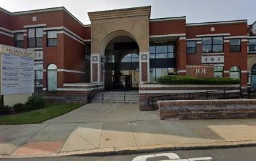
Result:
{"label": "concrete curb along the edge of the road", "polygon": [[256,146],[256,141],[238,141],[238,142],[214,142],[214,143],[193,143],[193,144],[164,144],[156,146],[135,146],[125,148],[100,148],[92,150],[78,150],[72,152],[59,152],[57,156],[110,156],[110,155],[127,155],[151,152],[163,152],[170,150],[208,150],[218,148],[242,148]]}

